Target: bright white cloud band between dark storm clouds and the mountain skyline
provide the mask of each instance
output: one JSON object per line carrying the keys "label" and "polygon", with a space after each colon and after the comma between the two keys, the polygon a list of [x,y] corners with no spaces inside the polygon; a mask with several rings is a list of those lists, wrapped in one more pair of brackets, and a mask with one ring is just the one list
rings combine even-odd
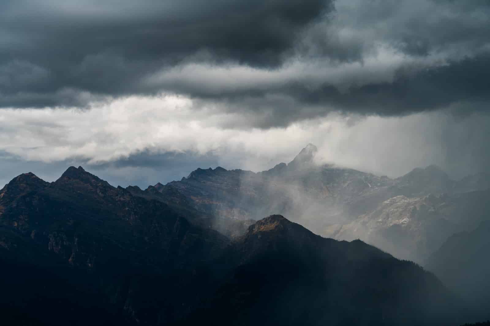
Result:
{"label": "bright white cloud band between dark storm clouds and the mountain skyline", "polygon": [[142,187],[197,167],[267,170],[291,161],[309,142],[319,147],[321,162],[392,177],[438,164],[458,178],[490,163],[488,115],[332,113],[281,128],[227,127],[246,119],[176,96],[121,98],[90,110],[4,109],[0,151],[10,161],[31,162],[34,173],[40,162],[54,164],[53,175],[81,164],[117,184]]}

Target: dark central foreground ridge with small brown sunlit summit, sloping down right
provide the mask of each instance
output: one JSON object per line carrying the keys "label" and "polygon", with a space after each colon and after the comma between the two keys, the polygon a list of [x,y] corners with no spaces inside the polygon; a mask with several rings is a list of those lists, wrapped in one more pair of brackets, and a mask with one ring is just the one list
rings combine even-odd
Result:
{"label": "dark central foreground ridge with small brown sunlit summit, sloping down right", "polygon": [[185,324],[439,325],[461,318],[458,301],[416,264],[360,240],[319,237],[280,215],[250,226],[221,262],[233,266],[225,282]]}

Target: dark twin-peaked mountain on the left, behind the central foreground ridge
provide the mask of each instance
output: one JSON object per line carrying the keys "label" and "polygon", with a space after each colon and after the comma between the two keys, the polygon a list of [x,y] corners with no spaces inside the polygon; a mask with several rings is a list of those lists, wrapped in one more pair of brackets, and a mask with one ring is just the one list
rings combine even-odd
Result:
{"label": "dark twin-peaked mountain on the left, behind the central foreground ridge", "polygon": [[104,324],[89,316],[98,310],[115,316],[106,318],[110,325],[170,323],[196,302],[182,288],[206,284],[199,279],[205,273],[193,275],[228,243],[168,205],[82,168],[41,185],[25,192],[14,179],[1,194],[20,196],[3,195],[0,215],[2,270],[11,277],[2,278],[2,288],[12,291],[2,303],[21,315],[32,311],[41,325]]}

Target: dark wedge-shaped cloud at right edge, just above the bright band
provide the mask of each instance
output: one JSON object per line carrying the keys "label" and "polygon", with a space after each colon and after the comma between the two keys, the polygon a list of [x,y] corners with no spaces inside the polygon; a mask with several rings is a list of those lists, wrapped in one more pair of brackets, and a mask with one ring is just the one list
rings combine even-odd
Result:
{"label": "dark wedge-shaped cloud at right edge, just above the bright band", "polygon": [[[458,102],[461,109],[489,111],[490,54],[465,58],[447,65],[396,72],[392,82],[350,87],[341,92],[331,85],[309,89],[303,85],[286,88],[285,94],[302,103],[323,103],[363,114],[397,115],[442,109]],[[481,103],[487,105],[481,105]]]}

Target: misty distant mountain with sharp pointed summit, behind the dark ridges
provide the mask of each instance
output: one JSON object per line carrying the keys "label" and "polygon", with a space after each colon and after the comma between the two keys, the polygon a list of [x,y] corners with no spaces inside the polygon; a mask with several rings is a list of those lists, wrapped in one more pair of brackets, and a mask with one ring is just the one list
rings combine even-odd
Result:
{"label": "misty distant mountain with sharp pointed summit, behind the dark ridges", "polygon": [[490,211],[486,174],[453,180],[431,165],[391,179],[318,164],[316,152],[309,144],[290,163],[260,173],[197,169],[158,188],[177,191],[221,223],[231,219],[246,225],[282,214],[318,234],[363,239],[419,263],[453,233],[476,227]]}

